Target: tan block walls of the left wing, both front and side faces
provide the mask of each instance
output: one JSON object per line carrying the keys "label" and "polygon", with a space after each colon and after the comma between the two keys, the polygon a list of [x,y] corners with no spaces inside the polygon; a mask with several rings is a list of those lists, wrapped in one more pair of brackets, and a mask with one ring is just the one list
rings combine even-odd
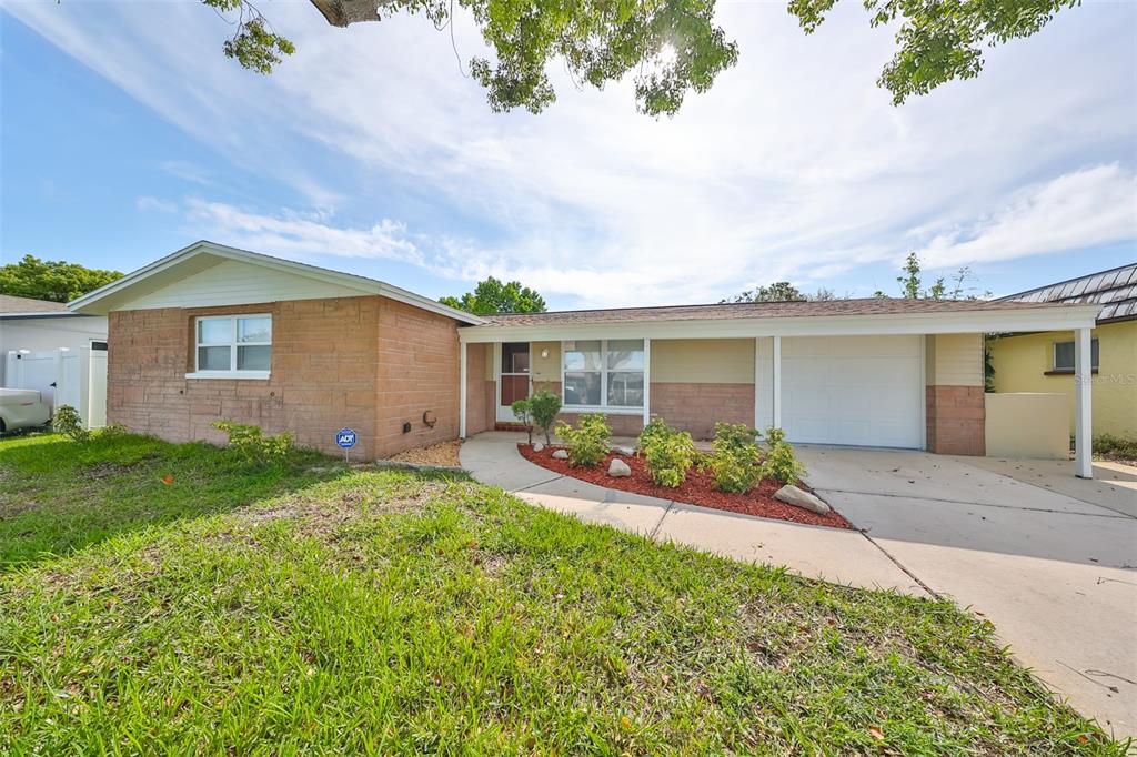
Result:
{"label": "tan block walls of the left wing, both front and side faces", "polygon": [[[273,316],[271,377],[186,378],[193,317],[240,313]],[[107,419],[171,441],[224,442],[209,424],[230,418],[340,454],[334,433],[350,426],[352,456],[382,457],[456,438],[457,386],[457,324],[382,297],[110,314]]]}

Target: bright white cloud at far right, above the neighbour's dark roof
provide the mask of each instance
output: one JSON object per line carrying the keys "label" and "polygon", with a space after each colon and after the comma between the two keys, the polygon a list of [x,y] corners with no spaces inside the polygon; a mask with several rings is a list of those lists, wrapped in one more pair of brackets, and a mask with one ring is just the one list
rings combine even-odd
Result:
{"label": "bright white cloud at far right, above the neighbour's dark roof", "polygon": [[1009,260],[1137,239],[1137,174],[1118,164],[1023,189],[996,213],[936,234],[932,267]]}

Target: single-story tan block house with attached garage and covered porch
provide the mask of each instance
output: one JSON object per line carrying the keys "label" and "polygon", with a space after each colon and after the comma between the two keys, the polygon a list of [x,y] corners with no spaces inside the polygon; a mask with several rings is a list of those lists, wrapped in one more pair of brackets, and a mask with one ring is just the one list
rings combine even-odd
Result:
{"label": "single-story tan block house with attached garage and covered porch", "polygon": [[[731,421],[797,442],[982,455],[984,334],[1076,330],[1088,346],[1098,309],[868,299],[481,317],[211,242],[70,307],[109,316],[111,422],[219,440],[209,424],[226,417],[327,451],[349,426],[363,457],[493,429],[540,386],[566,419],[607,413],[622,434],[663,416],[697,435]],[[1089,392],[1077,400],[1088,414]]]}

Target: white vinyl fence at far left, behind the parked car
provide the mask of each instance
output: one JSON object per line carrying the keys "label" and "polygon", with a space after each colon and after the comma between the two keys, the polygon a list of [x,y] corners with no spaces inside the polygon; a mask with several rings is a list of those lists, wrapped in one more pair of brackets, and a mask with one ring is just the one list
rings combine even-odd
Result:
{"label": "white vinyl fence at far left, behind the parked car", "polygon": [[39,390],[51,411],[60,405],[78,410],[83,425],[107,425],[107,350],[80,347],[31,352],[9,351],[5,364],[8,389]]}

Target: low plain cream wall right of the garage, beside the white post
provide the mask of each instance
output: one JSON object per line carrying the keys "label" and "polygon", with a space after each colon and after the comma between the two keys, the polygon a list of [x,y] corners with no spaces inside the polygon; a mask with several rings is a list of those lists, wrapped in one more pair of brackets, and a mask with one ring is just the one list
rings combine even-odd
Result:
{"label": "low plain cream wall right of the garage, beside the white post", "polygon": [[985,442],[988,457],[1070,458],[1070,397],[987,393]]}

